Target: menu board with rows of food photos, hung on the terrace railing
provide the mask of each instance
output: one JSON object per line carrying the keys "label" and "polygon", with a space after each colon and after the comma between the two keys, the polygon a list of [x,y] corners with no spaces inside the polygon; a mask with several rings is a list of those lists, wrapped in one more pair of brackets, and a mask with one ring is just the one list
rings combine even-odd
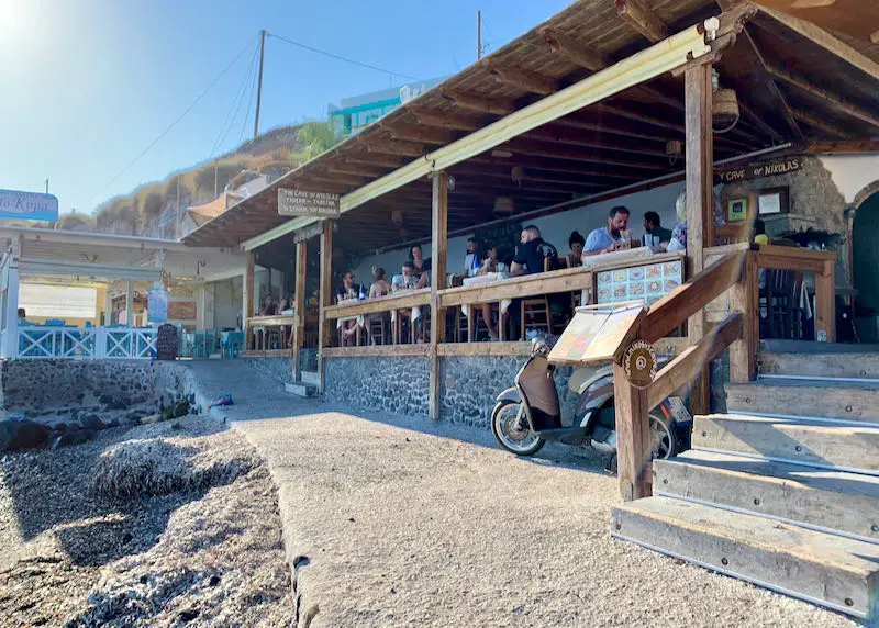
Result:
{"label": "menu board with rows of food photos, hung on the terrace railing", "polygon": [[683,282],[683,261],[675,259],[598,273],[597,302],[623,303],[641,300],[647,305]]}

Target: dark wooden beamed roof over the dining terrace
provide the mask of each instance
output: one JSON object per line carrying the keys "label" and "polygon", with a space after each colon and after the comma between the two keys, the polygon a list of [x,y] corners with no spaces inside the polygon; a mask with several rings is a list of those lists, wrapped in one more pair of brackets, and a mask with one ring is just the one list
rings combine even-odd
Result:
{"label": "dark wooden beamed roof over the dining terrace", "polygon": [[[742,3],[580,0],[209,221],[185,242],[234,246],[259,236],[289,220],[278,216],[277,188],[349,193],[720,14],[719,4]],[[735,127],[714,136],[715,160],[788,142],[832,147],[879,136],[878,45],[849,34],[837,37],[771,9],[743,13],[749,22],[737,37],[728,35],[734,42],[715,63],[721,87],[735,89],[741,110]],[[875,20],[869,13],[865,19]],[[682,164],[669,159],[666,144],[683,138],[682,77],[631,88],[450,167],[448,232],[497,218],[498,197],[513,199],[520,214],[674,175]],[[335,242],[357,254],[426,239],[430,233],[431,184],[418,180],[343,213]]]}

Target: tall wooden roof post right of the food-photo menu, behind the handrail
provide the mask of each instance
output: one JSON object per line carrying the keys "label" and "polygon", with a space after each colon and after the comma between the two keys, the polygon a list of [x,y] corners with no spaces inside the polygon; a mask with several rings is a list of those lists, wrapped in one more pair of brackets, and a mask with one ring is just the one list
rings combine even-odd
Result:
{"label": "tall wooden roof post right of the food-photo menu, behind the handrail", "polygon": [[[714,210],[714,141],[711,130],[711,65],[690,67],[685,72],[685,117],[687,134],[687,261],[690,277],[704,266],[704,247],[713,242]],[[705,334],[704,310],[690,317],[690,344],[694,345]],[[710,405],[709,368],[690,389],[690,411],[705,414]]]}

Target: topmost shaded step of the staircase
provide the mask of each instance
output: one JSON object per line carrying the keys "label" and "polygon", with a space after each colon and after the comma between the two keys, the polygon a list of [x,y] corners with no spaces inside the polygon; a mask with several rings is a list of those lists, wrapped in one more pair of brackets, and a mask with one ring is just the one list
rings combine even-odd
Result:
{"label": "topmost shaded step of the staircase", "polygon": [[[876,345],[808,345],[802,344],[793,352],[761,350],[760,374],[879,380],[879,348]],[[865,347],[870,350],[853,351]],[[815,349],[821,351],[815,352]]]}

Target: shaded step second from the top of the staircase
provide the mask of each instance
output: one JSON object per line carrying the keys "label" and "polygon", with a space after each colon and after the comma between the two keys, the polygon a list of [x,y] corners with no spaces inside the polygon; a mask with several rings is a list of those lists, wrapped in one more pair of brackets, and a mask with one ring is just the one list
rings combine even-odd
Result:
{"label": "shaded step second from the top of the staircase", "polygon": [[726,410],[879,425],[879,382],[779,377],[727,383]]}

